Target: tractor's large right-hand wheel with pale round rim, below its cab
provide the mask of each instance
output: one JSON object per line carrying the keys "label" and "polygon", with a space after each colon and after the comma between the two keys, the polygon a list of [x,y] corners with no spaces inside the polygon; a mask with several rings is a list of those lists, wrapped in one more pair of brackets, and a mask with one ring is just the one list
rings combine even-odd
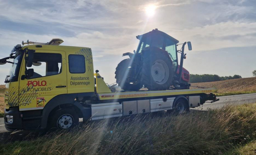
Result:
{"label": "tractor's large right-hand wheel with pale round rim, below its cab", "polygon": [[142,81],[149,90],[167,90],[173,81],[171,60],[162,52],[145,53]]}

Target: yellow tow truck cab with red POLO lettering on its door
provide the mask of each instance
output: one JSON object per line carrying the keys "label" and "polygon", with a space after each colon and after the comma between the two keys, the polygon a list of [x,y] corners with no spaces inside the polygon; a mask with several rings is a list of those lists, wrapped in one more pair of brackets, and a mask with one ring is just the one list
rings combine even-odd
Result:
{"label": "yellow tow truck cab with red POLO lettering on its door", "polygon": [[[91,48],[16,45],[9,57],[0,60],[1,64],[7,62],[12,63],[5,78],[7,128],[38,127],[43,108],[50,110],[61,100],[73,103],[76,97],[94,95]],[[54,100],[58,103],[48,104]]]}

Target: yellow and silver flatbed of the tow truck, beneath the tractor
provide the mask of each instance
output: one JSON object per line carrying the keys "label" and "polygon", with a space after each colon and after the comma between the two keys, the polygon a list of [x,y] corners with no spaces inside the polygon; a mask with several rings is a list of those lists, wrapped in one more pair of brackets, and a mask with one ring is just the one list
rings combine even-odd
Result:
{"label": "yellow and silver flatbed of the tow truck, beneath the tractor", "polygon": [[100,74],[96,76],[97,101],[86,103],[91,110],[90,120],[173,110],[182,104],[182,110],[199,107],[206,101],[216,102],[215,88],[161,91],[111,92]]}

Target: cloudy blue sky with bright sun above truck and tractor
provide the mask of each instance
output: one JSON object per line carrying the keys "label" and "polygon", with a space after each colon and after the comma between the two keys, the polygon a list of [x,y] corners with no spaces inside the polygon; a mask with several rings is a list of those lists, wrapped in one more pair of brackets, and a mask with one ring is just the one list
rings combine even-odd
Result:
{"label": "cloudy blue sky with bright sun above truck and tractor", "polygon": [[[255,0],[0,0],[0,57],[24,40],[90,47],[94,70],[111,84],[137,35],[159,29],[183,43],[190,74],[252,77],[256,70]],[[0,66],[4,84],[10,64]]]}

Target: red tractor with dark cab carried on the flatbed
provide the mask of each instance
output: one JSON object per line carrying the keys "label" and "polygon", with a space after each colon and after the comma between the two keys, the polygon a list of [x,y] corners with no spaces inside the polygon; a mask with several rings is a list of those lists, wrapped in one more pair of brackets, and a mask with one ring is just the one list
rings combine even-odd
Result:
{"label": "red tractor with dark cab carried on the flatbed", "polygon": [[[185,45],[192,50],[191,43],[179,41],[154,29],[136,36],[140,43],[134,53],[123,53],[130,58],[122,60],[116,67],[116,83],[125,91],[189,89],[189,71],[183,68]],[[181,50],[177,50],[182,45]],[[178,53],[181,53],[180,65]]]}

